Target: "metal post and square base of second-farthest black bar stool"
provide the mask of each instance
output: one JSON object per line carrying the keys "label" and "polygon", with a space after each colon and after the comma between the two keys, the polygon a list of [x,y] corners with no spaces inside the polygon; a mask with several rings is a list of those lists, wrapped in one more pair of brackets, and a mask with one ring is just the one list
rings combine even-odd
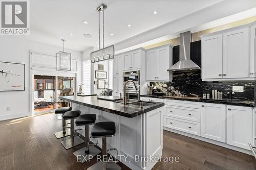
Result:
{"label": "metal post and square base of second-farthest black bar stool", "polygon": [[[61,144],[65,149],[70,149],[75,147],[78,144],[84,143],[84,141],[80,138],[79,134],[75,134],[75,124],[74,124],[74,119],[71,119],[71,127],[70,127],[70,133],[71,137],[69,139],[61,141]],[[67,133],[67,132],[66,132]]]}

